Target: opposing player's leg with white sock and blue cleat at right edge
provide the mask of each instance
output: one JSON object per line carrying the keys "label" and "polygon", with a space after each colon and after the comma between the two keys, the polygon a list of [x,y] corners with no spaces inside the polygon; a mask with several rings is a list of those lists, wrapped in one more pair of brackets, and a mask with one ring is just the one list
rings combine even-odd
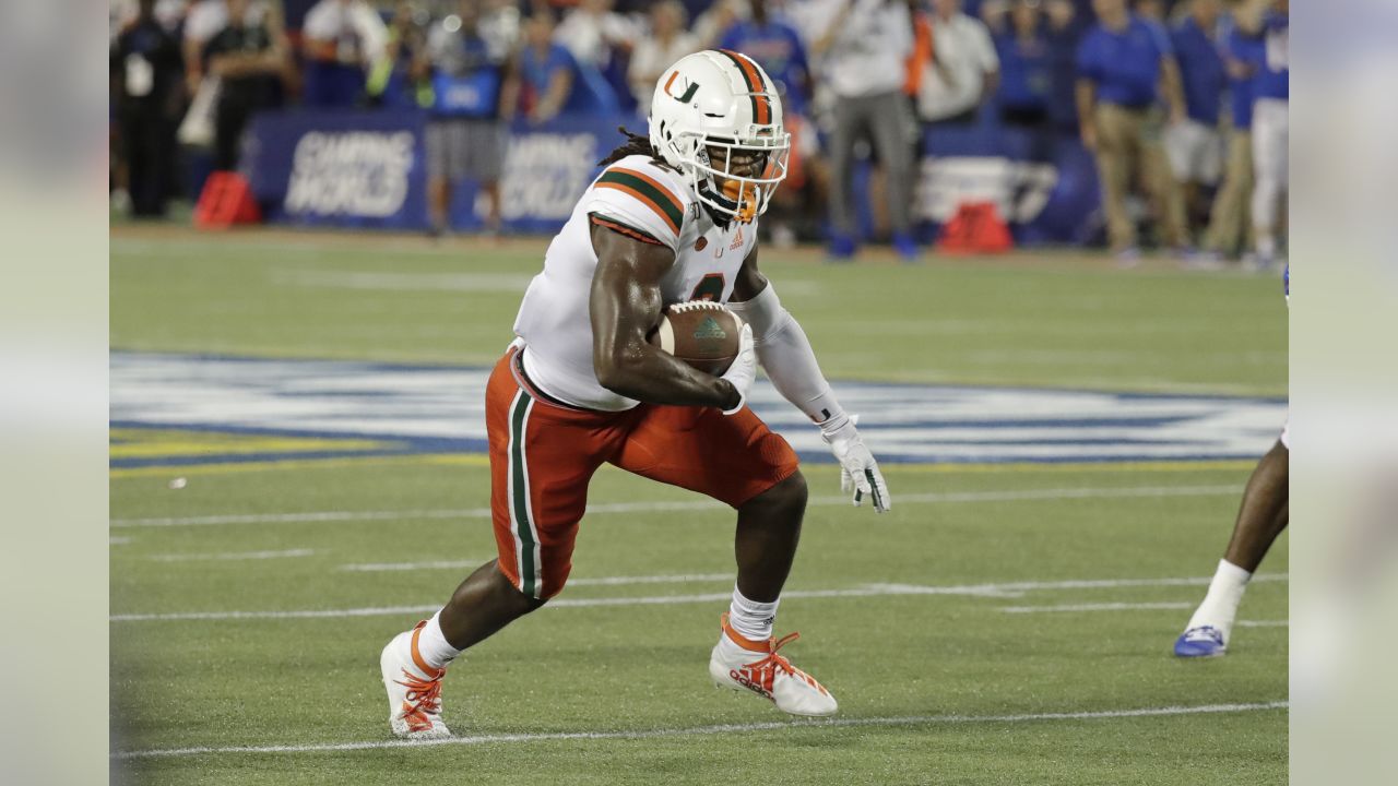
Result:
{"label": "opposing player's leg with white sock and blue cleat at right edge", "polygon": [[1194,611],[1184,634],[1174,643],[1181,657],[1223,655],[1243,601],[1243,592],[1267,551],[1286,529],[1289,520],[1288,478],[1290,452],[1286,436],[1276,442],[1247,481],[1243,502],[1233,524],[1218,572],[1209,583],[1204,603]]}

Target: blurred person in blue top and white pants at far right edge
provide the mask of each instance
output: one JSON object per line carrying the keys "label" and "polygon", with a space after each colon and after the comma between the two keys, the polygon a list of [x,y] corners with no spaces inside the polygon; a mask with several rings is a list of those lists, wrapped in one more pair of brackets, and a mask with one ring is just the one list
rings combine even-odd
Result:
{"label": "blurred person in blue top and white pants at far right edge", "polygon": [[1262,18],[1262,46],[1253,53],[1253,236],[1261,269],[1278,264],[1276,224],[1288,186],[1289,13],[1289,0],[1274,0]]}

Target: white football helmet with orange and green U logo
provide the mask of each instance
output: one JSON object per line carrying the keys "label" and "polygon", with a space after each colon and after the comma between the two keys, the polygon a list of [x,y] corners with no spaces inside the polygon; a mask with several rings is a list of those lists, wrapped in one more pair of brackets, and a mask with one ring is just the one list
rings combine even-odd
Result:
{"label": "white football helmet with orange and green U logo", "polygon": [[[660,76],[650,102],[650,144],[689,178],[703,204],[752,221],[786,179],[791,134],[762,66],[738,52],[709,49],[681,57]],[[710,148],[724,151],[721,166],[710,159]]]}

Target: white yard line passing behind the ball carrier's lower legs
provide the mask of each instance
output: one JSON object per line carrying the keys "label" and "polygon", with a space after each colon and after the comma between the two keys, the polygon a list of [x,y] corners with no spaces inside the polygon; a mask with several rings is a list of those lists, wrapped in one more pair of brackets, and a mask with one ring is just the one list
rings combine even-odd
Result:
{"label": "white yard line passing behind the ball carrier's lower legs", "polygon": [[[723,573],[712,573],[713,576],[723,576]],[[674,579],[674,576],[612,576],[604,579],[591,579],[591,582],[601,583],[622,583],[633,582],[636,578],[640,579]],[[685,576],[686,579],[698,580],[699,576]],[[582,579],[589,580],[589,579]],[[717,579],[716,579],[717,580]],[[1165,579],[1120,579],[1120,580],[1062,580],[1062,582],[1009,582],[1002,585],[951,585],[951,586],[923,586],[923,585],[865,585],[863,587],[850,589],[826,589],[826,590],[788,590],[781,593],[784,599],[800,599],[800,597],[888,597],[888,596],[918,596],[918,594],[949,594],[949,596],[972,596],[972,597],[1018,597],[1015,593],[1025,593],[1030,590],[1058,590],[1058,589],[1085,589],[1085,587],[1141,587],[1141,586],[1206,586],[1209,583],[1208,576],[1197,578],[1165,578]],[[1253,576],[1253,582],[1285,582],[1288,576],[1285,573],[1265,573]],[[573,583],[573,582],[569,582]],[[637,582],[642,583],[642,582]],[[703,594],[660,594],[660,596],[643,596],[643,597],[559,597],[551,600],[545,608],[593,608],[604,606],[671,606],[684,603],[719,603],[733,597],[730,592],[721,593],[703,593]],[[1096,604],[1102,606],[1102,604]],[[1107,606],[1121,606],[1121,604],[1107,604]],[[1130,604],[1125,604],[1130,606]],[[1186,608],[1191,604],[1169,604],[1170,608]],[[299,608],[289,611],[175,611],[165,614],[113,614],[109,617],[112,622],[152,622],[152,621],[178,621],[178,620],[315,620],[315,618],[340,618],[340,617],[389,617],[397,614],[424,614],[432,613],[440,608],[440,604],[421,604],[421,606],[384,606],[384,607],[365,607],[365,608]],[[1028,608],[1028,610],[1050,610],[1050,611],[1064,611],[1071,607],[1047,607],[1047,606],[1022,606],[1022,607],[1007,607],[1011,608]],[[1090,608],[1096,610],[1096,608]]]}

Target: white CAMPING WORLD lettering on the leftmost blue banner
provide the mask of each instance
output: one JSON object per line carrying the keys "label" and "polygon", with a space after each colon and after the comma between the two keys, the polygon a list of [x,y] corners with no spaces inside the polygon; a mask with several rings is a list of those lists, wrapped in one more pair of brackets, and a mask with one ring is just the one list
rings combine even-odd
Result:
{"label": "white CAMPING WORLD lettering on the leftmost blue banner", "polygon": [[296,143],[288,214],[386,218],[403,210],[411,131],[310,131]]}

